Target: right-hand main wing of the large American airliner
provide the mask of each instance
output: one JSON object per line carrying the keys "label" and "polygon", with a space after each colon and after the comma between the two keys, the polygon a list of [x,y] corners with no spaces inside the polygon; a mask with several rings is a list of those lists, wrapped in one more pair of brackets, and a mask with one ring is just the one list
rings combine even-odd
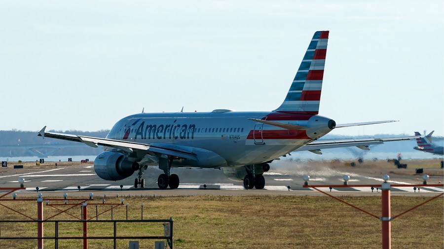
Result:
{"label": "right-hand main wing of the large American airliner", "polygon": [[316,140],[296,149],[296,151],[308,150],[315,154],[322,154],[321,149],[341,148],[341,147],[351,147],[351,146],[356,146],[364,150],[370,150],[369,146],[373,144],[380,144],[390,141],[417,139],[421,137],[424,136],[407,136],[407,137],[391,137],[391,138],[375,138],[375,139],[369,138],[369,139]]}

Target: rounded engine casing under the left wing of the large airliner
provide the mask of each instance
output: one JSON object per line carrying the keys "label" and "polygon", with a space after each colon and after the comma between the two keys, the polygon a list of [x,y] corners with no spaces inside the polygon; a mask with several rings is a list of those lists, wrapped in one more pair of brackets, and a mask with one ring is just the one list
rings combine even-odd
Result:
{"label": "rounded engine casing under the left wing of the large airliner", "polygon": [[121,180],[139,170],[139,164],[126,159],[125,154],[106,151],[94,160],[94,171],[105,180]]}

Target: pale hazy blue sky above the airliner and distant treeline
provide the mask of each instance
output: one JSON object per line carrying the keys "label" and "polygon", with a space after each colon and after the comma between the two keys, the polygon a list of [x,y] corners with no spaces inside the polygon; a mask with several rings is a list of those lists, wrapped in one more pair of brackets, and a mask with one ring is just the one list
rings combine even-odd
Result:
{"label": "pale hazy blue sky above the airliner and distant treeline", "polygon": [[97,131],[145,112],[270,111],[329,30],[334,135],[444,134],[442,0],[0,2],[0,130]]}

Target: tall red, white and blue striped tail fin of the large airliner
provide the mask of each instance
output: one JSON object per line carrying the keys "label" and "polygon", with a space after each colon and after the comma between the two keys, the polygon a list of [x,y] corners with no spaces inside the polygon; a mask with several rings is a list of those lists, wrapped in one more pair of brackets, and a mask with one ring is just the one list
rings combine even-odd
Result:
{"label": "tall red, white and blue striped tail fin of the large airliner", "polygon": [[319,113],[328,39],[328,31],[317,31],[314,34],[284,103],[274,111],[313,115]]}

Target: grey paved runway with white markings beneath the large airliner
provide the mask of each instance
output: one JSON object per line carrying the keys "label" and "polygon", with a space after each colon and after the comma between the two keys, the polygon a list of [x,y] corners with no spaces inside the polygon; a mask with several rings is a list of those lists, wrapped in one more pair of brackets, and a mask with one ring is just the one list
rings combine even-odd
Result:
{"label": "grey paved runway with white markings beneath the large airliner", "polygon": [[[302,175],[311,176],[309,184],[342,184],[342,176],[349,175],[350,184],[379,184],[383,180],[381,171],[364,171],[354,168],[330,169],[319,166],[295,166],[295,167],[272,167],[272,170],[264,173],[265,188],[246,190],[242,182],[232,181],[226,178],[221,170],[217,169],[173,169],[172,173],[179,175],[181,184],[178,189],[160,190],[157,187],[157,177],[161,174],[157,167],[148,167],[145,171],[145,188],[134,188],[134,178],[137,172],[130,178],[120,181],[106,181],[99,178],[92,165],[77,165],[72,167],[53,167],[48,169],[6,169],[2,170],[0,176],[1,187],[18,186],[17,179],[25,178],[26,190],[20,190],[22,195],[35,195],[38,191],[45,195],[61,195],[68,192],[70,195],[84,195],[85,192],[103,194],[156,194],[156,195],[322,195],[322,193],[303,187]],[[432,177],[430,181],[437,183],[438,177]],[[391,174],[391,182],[398,184],[419,184],[422,181],[415,176]],[[206,187],[205,187],[206,185]],[[80,191],[77,186],[80,186]],[[290,190],[288,188],[290,186]],[[321,188],[321,190],[335,195],[378,195],[380,191],[373,191],[367,187],[341,187]],[[392,188],[393,195],[436,195],[442,193],[441,187],[422,187],[420,191],[411,187]]]}

